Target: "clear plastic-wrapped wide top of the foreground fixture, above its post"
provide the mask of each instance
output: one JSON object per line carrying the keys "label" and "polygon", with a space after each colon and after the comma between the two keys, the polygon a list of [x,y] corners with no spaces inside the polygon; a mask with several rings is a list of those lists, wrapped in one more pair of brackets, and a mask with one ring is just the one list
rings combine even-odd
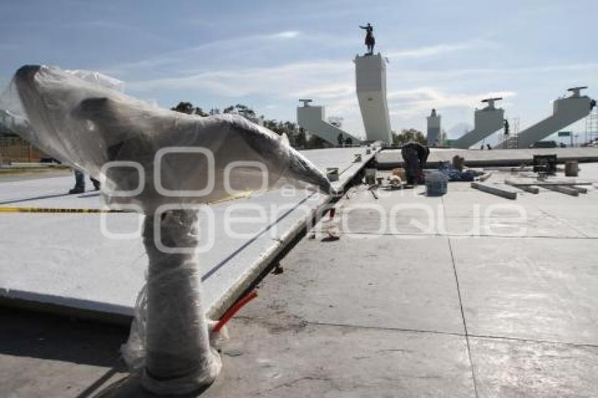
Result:
{"label": "clear plastic-wrapped wide top of the foreground fixture, above its post", "polygon": [[326,176],[272,131],[238,115],[185,115],[126,96],[94,72],[25,66],[0,107],[49,155],[102,181],[108,203],[211,203],[281,184],[331,191]]}

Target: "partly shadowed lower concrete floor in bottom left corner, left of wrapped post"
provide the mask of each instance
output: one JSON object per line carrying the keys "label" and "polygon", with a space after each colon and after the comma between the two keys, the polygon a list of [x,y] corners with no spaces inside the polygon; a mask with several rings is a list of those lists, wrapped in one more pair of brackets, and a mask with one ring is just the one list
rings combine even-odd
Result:
{"label": "partly shadowed lower concrete floor in bottom left corner, left of wrapped post", "polygon": [[89,397],[122,378],[127,328],[0,307],[2,397]]}

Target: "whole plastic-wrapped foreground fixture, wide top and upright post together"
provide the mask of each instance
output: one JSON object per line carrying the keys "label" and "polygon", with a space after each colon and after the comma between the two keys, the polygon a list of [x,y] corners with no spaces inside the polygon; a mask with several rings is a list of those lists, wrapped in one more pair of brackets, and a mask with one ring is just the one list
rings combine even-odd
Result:
{"label": "whole plastic-wrapped foreground fixture, wide top and upright post together", "polygon": [[194,206],[283,184],[333,190],[268,129],[235,115],[158,109],[120,86],[97,72],[27,65],[0,109],[39,149],[102,181],[107,203],[146,214],[147,283],[123,356],[143,368],[147,390],[192,392],[212,383],[222,366],[201,300]]}

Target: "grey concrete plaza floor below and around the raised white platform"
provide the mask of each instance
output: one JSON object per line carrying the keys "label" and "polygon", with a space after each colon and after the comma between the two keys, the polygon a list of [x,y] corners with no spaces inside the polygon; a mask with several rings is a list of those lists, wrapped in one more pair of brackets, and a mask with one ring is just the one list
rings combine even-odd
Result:
{"label": "grey concrete plaza floor below and around the raised white platform", "polygon": [[[595,186],[376,195],[350,189],[263,279],[202,397],[598,395]],[[150,396],[119,360],[125,328],[13,309],[0,325],[3,395]]]}

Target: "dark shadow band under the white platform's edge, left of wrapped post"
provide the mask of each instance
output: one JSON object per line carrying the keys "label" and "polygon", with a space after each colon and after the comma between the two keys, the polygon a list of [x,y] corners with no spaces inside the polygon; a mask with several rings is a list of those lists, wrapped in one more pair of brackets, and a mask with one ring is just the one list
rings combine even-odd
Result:
{"label": "dark shadow band under the white platform's edge, left of wrapped post", "polygon": [[125,326],[0,307],[0,354],[125,371],[119,349],[128,334]]}

